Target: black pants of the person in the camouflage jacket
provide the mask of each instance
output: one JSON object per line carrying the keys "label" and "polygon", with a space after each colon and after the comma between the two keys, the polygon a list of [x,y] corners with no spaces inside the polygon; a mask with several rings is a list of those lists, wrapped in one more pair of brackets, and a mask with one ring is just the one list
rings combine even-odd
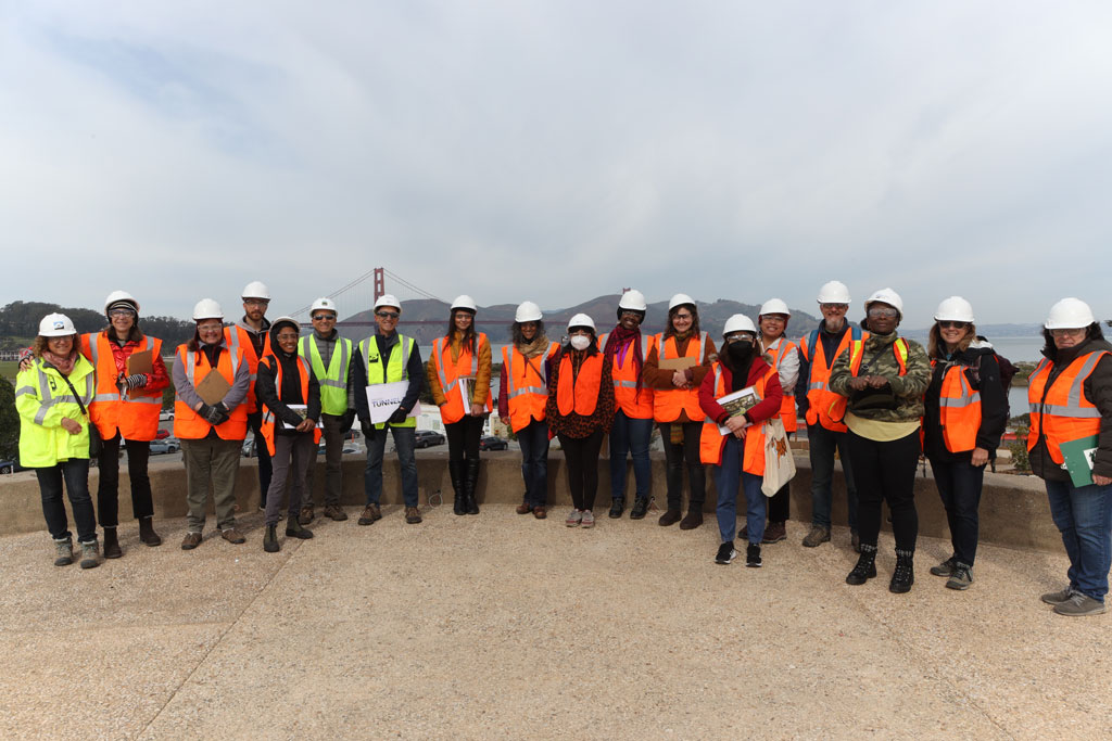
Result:
{"label": "black pants of the person in the camouflage jacket", "polygon": [[919,430],[881,442],[850,430],[850,459],[857,487],[857,527],[862,545],[876,545],[881,532],[881,502],[892,512],[896,550],[914,551],[919,537],[915,512],[915,469],[919,467]]}

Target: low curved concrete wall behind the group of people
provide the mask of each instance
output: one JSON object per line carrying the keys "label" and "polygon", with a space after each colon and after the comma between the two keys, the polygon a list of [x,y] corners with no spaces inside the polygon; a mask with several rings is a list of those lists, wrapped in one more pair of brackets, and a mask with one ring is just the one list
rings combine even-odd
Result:
{"label": "low curved concrete wall behind the group of people", "polygon": [[[792,481],[792,519],[803,522],[811,521],[811,469],[806,457],[796,454],[798,474]],[[128,493],[127,464],[120,471],[120,522],[127,527],[131,519],[131,498]],[[361,455],[347,455],[344,461],[344,494],[342,503],[361,505],[363,469],[365,460]],[[241,459],[237,479],[237,500],[240,511],[256,511],[258,507],[258,473],[255,459]],[[324,485],[324,461],[317,462],[316,500],[321,501]],[[400,504],[400,477],[397,459],[387,455],[385,467],[384,504]],[[443,492],[444,503],[451,505],[451,482],[448,478],[447,452],[417,451],[418,481],[420,501],[424,507],[430,495]],[[845,484],[837,469],[834,477],[834,524],[846,524]],[[180,463],[152,462],[150,465],[151,488],[155,492],[155,512],[158,518],[176,518],[186,514],[186,477]],[[599,461],[598,497],[595,510],[603,514],[609,508],[609,461]],[[97,469],[91,469],[89,488],[96,502]],[[714,512],[716,494],[714,480],[707,475],[707,501],[704,510]],[[633,471],[627,477],[627,503],[633,499]],[[485,453],[479,474],[479,503],[516,504],[522,500],[524,491],[520,472],[520,458],[516,452]],[[653,457],[653,495],[657,507],[665,503],[664,458],[656,453]],[[39,487],[33,471],[26,471],[0,477],[0,501],[3,503],[3,519],[0,520],[0,534],[16,532],[32,532],[44,530],[42,508],[39,499]],[[685,494],[686,501],[686,494]],[[563,508],[570,507],[570,495],[567,491],[566,468],[564,457],[554,452],[548,459],[548,502],[563,515]],[[939,501],[934,481],[921,469],[915,479],[915,502],[919,508],[920,532],[924,535],[949,538],[945,512]],[[744,511],[744,502],[739,507]],[[628,517],[628,513],[627,513]],[[651,514],[655,519],[655,515]],[[604,518],[605,520],[605,518]],[[648,522],[649,520],[646,520]],[[210,521],[211,523],[211,521]],[[887,527],[885,524],[885,527]],[[1050,517],[1046,493],[1042,481],[1033,477],[1010,475],[1003,473],[985,473],[984,493],[981,499],[981,539],[999,545],[1014,548],[1035,548],[1058,551],[1062,541]]]}

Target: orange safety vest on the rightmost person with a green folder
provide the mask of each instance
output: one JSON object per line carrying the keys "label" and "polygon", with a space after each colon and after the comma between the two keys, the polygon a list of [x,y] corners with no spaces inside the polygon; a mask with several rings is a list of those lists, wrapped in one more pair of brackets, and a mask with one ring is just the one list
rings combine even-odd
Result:
{"label": "orange safety vest on the rightmost person with a green folder", "polygon": [[1109,353],[1094,350],[1078,356],[1065,370],[1058,374],[1050,385],[1050,370],[1053,363],[1043,358],[1027,378],[1027,403],[1031,405],[1031,430],[1027,432],[1027,450],[1032,450],[1040,437],[1046,438],[1050,459],[1061,464],[1062,443],[1089,438],[1101,431],[1101,412],[1085,398],[1085,379],[1092,374]]}

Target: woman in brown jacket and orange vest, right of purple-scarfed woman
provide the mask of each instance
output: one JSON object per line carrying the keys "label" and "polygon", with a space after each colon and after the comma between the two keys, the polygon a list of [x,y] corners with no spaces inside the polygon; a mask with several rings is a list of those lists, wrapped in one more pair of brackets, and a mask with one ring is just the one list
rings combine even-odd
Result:
{"label": "woman in brown jacket and orange vest, right of purple-scarfed woman", "polygon": [[[692,530],[703,524],[706,472],[698,450],[705,414],[698,388],[711,370],[714,353],[714,340],[699,331],[695,300],[686,293],[673,296],[667,324],[653,340],[644,369],[645,382],[653,389],[653,419],[664,442],[668,508],[658,521],[664,527],[679,522],[681,530]],[[681,522],[685,468],[691,501]]]}

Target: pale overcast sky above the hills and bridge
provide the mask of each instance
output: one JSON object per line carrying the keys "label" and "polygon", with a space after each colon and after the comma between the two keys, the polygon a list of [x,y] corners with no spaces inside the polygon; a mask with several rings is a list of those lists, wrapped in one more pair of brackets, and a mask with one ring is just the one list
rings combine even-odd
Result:
{"label": "pale overcast sky above the hills and bridge", "polygon": [[0,302],[275,314],[381,266],[1110,318],[1110,38],[1106,0],[0,0]]}

